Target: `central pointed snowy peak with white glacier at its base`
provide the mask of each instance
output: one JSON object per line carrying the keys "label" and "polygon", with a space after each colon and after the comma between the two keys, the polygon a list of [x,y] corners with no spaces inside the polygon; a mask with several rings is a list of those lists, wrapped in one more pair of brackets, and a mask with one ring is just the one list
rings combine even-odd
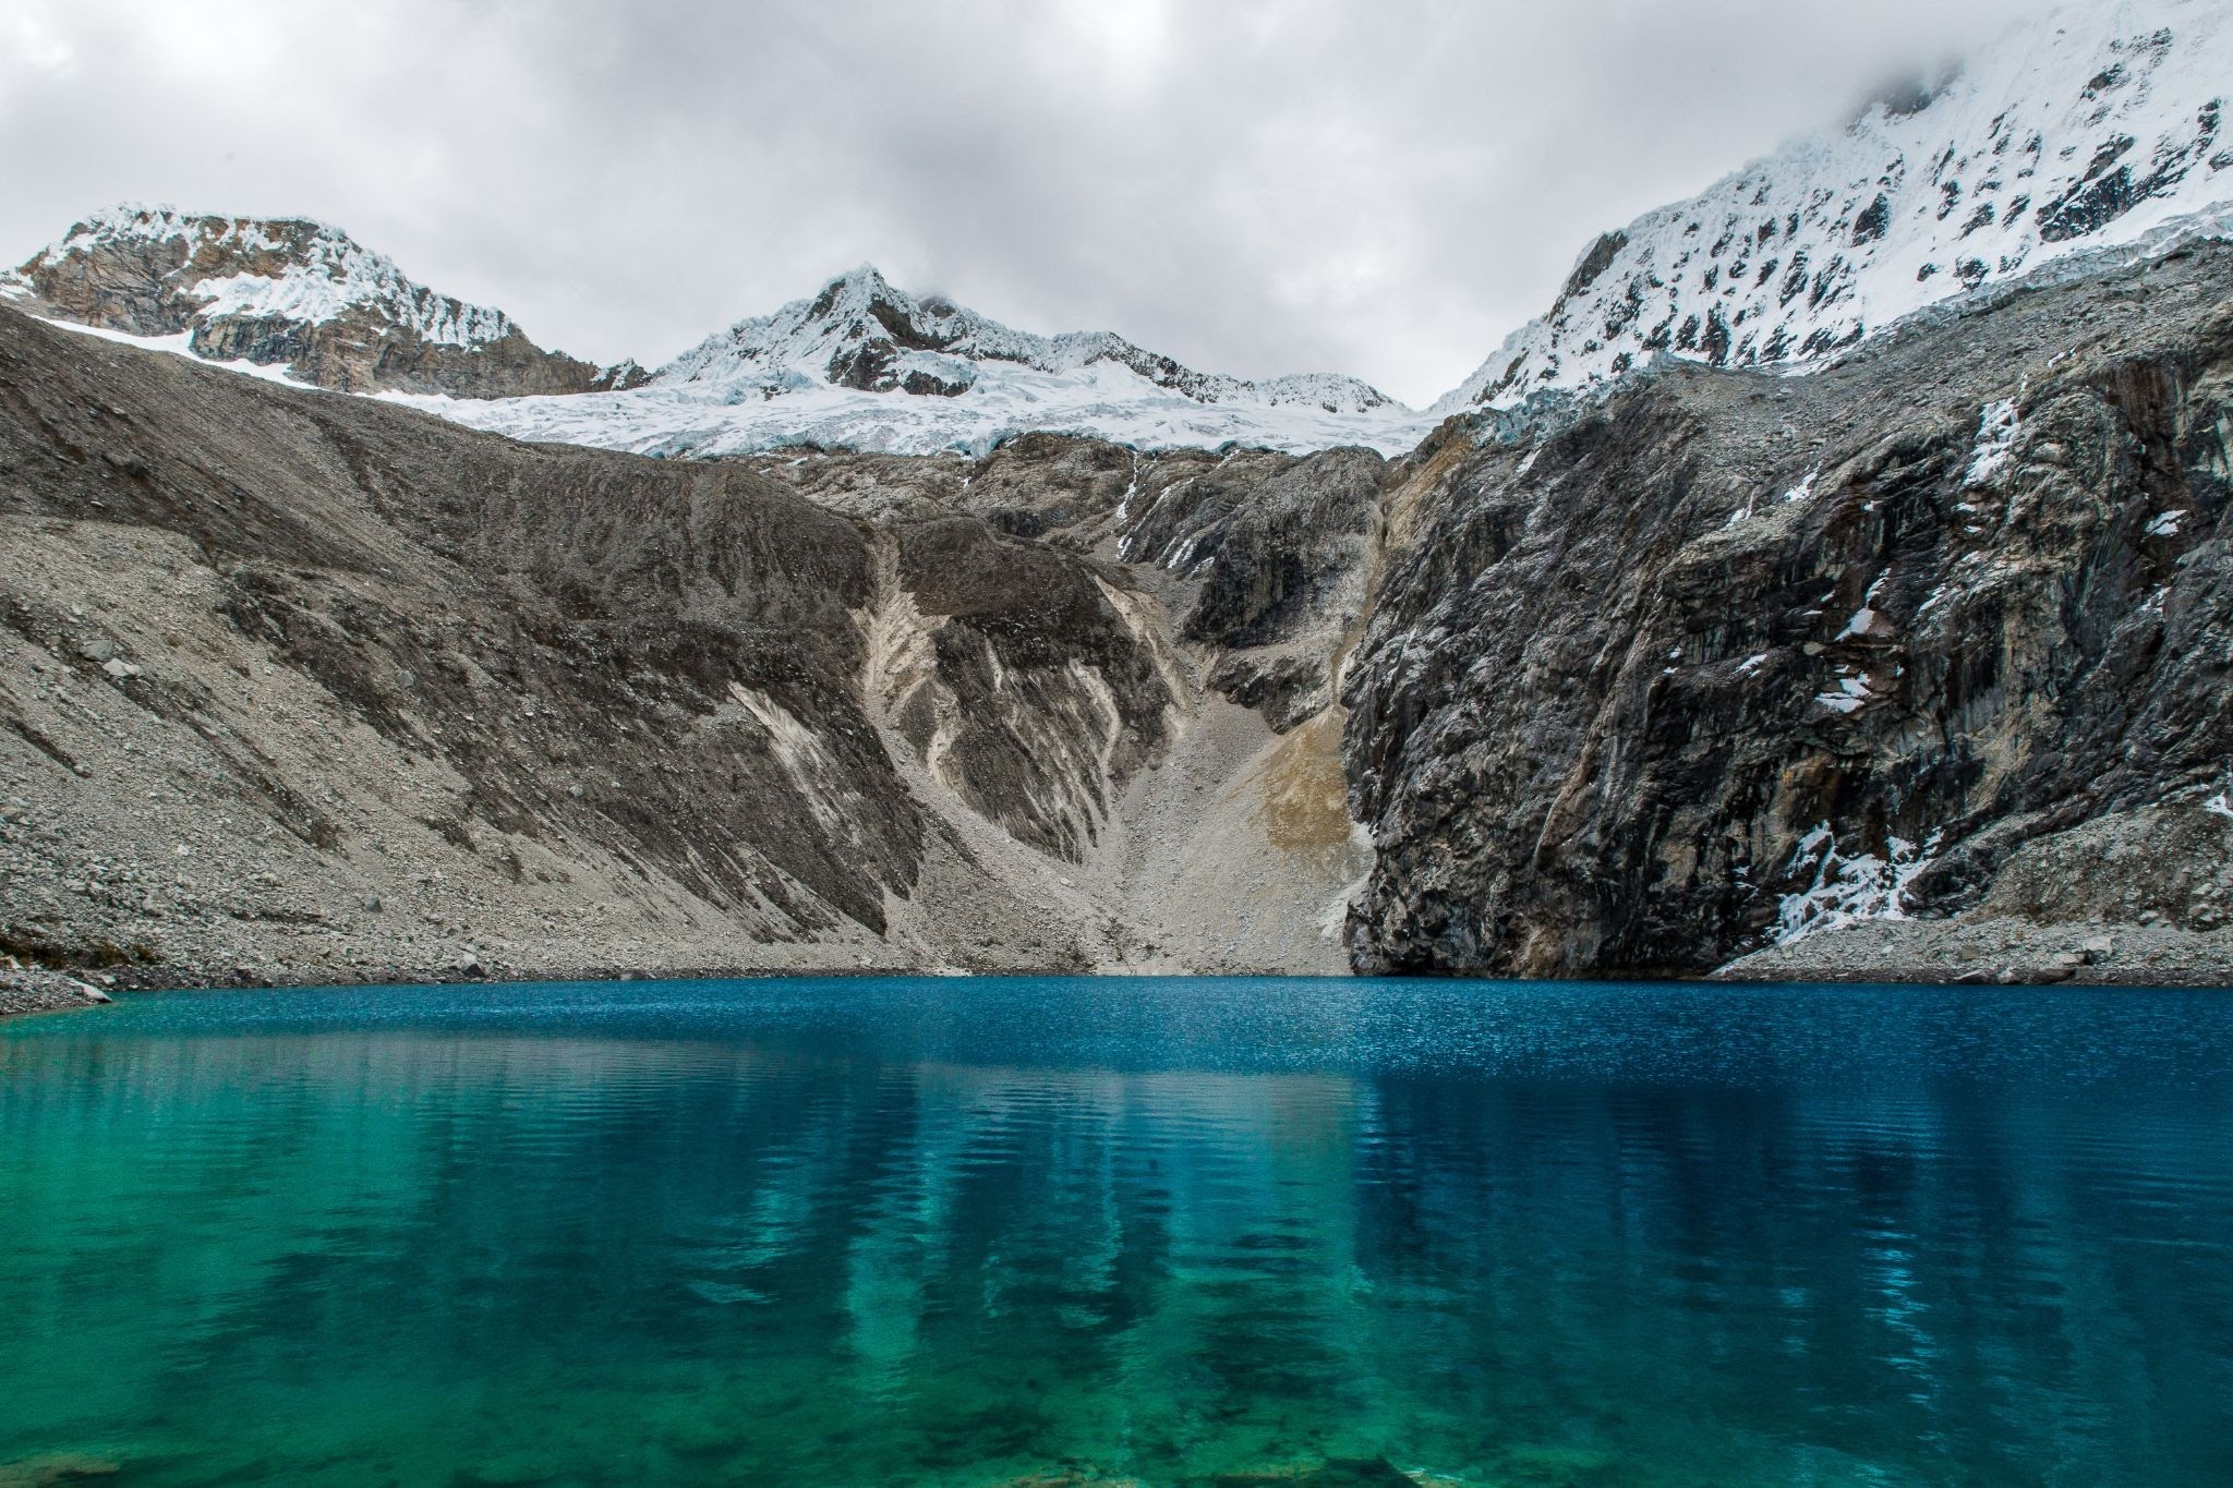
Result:
{"label": "central pointed snowy peak with white glacier at its base", "polygon": [[824,446],[983,453],[1020,433],[1134,448],[1409,448],[1429,419],[1355,377],[1244,381],[1197,373],[1110,332],[1032,335],[869,265],[737,321],[641,388],[431,413],[520,439],[652,455]]}

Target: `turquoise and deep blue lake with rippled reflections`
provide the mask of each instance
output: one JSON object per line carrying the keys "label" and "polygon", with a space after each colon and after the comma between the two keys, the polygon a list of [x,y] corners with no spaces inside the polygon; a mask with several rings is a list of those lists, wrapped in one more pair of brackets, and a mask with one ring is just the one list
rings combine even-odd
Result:
{"label": "turquoise and deep blue lake with rippled reflections", "polygon": [[0,1484],[67,1463],[2222,1486],[2233,997],[799,979],[13,1020]]}

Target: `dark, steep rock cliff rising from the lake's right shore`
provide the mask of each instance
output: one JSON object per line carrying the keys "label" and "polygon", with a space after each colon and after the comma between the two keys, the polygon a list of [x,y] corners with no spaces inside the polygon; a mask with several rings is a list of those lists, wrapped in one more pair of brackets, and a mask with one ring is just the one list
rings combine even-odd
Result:
{"label": "dark, steep rock cliff rising from the lake's right shore", "polygon": [[1344,685],[1358,964],[1706,970],[2222,785],[2229,290],[2211,248],[1804,379],[1668,366],[1539,442],[1445,426]]}

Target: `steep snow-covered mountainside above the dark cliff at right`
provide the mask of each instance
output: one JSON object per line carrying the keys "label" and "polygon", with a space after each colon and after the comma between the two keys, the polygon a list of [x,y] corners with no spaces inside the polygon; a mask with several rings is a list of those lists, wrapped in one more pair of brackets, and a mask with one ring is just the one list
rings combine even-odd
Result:
{"label": "steep snow-covered mountainside above the dark cliff at right", "polygon": [[1550,315],[1434,404],[1512,408],[1655,355],[1813,366],[1927,306],[2072,254],[2217,230],[2233,20],[2213,0],[2052,11],[1603,234]]}

